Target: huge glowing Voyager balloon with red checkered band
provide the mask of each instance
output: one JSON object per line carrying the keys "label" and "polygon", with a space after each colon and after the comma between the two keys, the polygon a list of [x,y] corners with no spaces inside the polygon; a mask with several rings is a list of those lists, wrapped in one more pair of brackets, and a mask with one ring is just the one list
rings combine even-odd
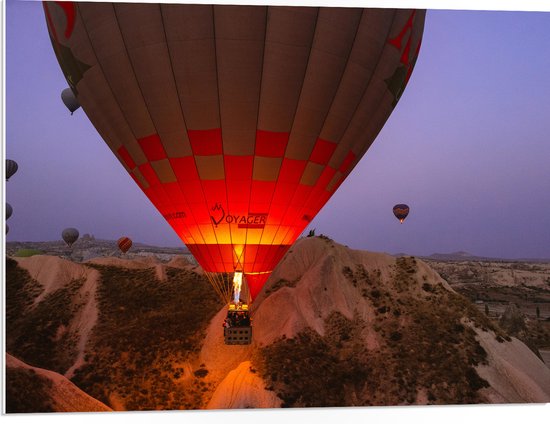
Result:
{"label": "huge glowing Voyager balloon with red checkered band", "polygon": [[97,131],[218,290],[230,296],[222,277],[239,286],[244,274],[252,298],[388,119],[425,18],[150,3],[44,10]]}

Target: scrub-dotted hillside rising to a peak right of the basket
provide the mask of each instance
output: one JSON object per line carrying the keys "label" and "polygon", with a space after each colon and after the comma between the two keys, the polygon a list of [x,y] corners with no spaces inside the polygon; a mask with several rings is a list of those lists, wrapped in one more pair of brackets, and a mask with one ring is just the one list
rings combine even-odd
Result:
{"label": "scrub-dotted hillside rising to a peak right of the basket", "polygon": [[[214,367],[235,361],[209,340]],[[272,274],[254,343],[253,368],[284,406],[550,401],[545,364],[426,263],[321,237],[298,240]]]}

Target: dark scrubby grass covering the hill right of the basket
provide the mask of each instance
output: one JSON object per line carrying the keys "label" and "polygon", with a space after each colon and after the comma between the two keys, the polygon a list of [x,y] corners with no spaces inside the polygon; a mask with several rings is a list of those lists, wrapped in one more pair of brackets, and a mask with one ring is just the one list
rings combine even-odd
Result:
{"label": "dark scrubby grass covering the hill right of the basket", "polygon": [[[396,261],[393,279],[379,270],[344,267],[343,275],[370,303],[375,319],[333,313],[325,336],[307,330],[262,348],[254,366],[286,407],[480,402],[488,386],[475,371],[486,352],[466,321],[500,332],[460,295],[417,281],[414,258]],[[364,334],[376,331],[380,348],[367,350]]]}

